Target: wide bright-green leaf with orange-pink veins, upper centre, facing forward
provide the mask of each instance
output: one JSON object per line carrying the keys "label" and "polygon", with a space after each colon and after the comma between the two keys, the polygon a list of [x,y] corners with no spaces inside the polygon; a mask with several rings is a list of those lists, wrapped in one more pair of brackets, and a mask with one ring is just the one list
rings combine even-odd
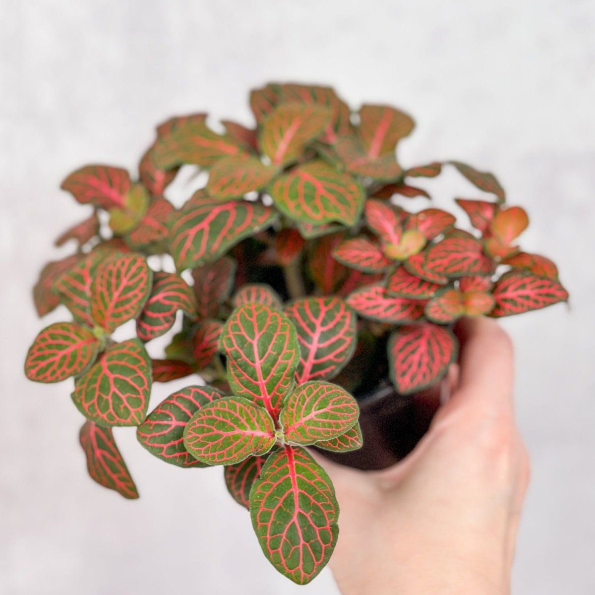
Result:
{"label": "wide bright-green leaf with orange-pink veins, upper centre, facing forward", "polygon": [[364,205],[361,184],[320,160],[278,177],[269,191],[284,215],[314,225],[338,221],[352,226]]}

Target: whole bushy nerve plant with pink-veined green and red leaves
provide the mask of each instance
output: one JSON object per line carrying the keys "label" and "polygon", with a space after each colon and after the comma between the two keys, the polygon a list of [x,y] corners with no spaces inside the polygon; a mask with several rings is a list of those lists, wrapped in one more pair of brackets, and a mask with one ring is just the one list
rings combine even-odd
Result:
{"label": "whole bushy nerve plant with pink-veined green and red leaves", "polygon": [[[353,113],[333,89],[300,84],[254,90],[250,106],[252,128],[227,120],[216,132],[205,114],[161,124],[135,178],[87,165],[64,180],[89,215],[58,238],[76,250],[43,268],[33,296],[40,316],[62,304],[71,320],[39,333],[25,371],[74,378],[95,481],[138,497],[115,426],[136,427],[170,464],[223,465],[265,556],[305,584],[333,551],[339,515],[307,447],[363,468],[390,464],[424,430],[412,433],[403,412],[456,359],[454,321],[568,294],[552,261],[517,245],[527,214],[492,174],[397,161],[409,115]],[[187,165],[208,180],[175,208],[168,185]],[[430,198],[423,180],[445,167],[479,191],[456,199],[466,229],[419,208]],[[146,344],[180,318],[165,357],[151,358]],[[132,320],[136,336],[115,341]],[[149,408],[152,383],[197,373],[205,384]]]}

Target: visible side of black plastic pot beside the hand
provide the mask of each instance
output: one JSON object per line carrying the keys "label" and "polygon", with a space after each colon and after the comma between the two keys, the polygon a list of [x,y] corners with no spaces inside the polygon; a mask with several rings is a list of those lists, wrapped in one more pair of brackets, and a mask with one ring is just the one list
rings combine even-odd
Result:
{"label": "visible side of black plastic pot beside the hand", "polygon": [[364,396],[358,396],[359,425],[364,446],[352,452],[320,451],[342,465],[371,471],[385,469],[405,458],[430,427],[446,399],[446,383],[403,396],[388,381]]}

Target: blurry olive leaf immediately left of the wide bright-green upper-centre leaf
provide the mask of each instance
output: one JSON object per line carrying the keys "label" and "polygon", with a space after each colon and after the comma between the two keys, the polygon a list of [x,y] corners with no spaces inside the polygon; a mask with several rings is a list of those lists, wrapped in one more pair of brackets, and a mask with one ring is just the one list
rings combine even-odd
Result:
{"label": "blurry olive leaf immediately left of the wide bright-green upper-centre leaf", "polygon": [[242,198],[248,192],[262,190],[277,171],[258,157],[226,157],[212,167],[206,192],[217,198]]}

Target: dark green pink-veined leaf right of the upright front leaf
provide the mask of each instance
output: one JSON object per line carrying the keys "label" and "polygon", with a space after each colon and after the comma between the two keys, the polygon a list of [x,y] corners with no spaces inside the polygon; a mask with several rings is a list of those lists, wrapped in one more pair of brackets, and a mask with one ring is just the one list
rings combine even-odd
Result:
{"label": "dark green pink-veined leaf right of the upright front leaf", "polygon": [[290,302],[285,314],[300,347],[298,383],[339,374],[355,351],[355,312],[339,297],[308,297]]}

